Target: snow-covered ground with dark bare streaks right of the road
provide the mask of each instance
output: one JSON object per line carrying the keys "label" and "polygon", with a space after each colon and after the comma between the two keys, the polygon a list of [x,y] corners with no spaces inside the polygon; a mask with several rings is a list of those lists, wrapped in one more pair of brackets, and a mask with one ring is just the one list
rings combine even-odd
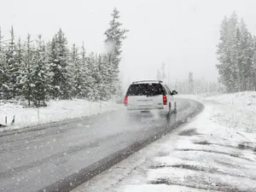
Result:
{"label": "snow-covered ground with dark bare streaks right of the road", "polygon": [[256,93],[196,97],[189,124],[73,192],[256,191]]}

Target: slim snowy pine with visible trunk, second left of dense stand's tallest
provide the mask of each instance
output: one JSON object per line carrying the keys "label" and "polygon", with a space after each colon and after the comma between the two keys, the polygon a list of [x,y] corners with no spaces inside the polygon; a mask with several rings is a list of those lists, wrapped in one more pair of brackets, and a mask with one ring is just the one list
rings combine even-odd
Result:
{"label": "slim snowy pine with visible trunk, second left of dense stand's tallest", "polygon": [[35,62],[35,49],[32,46],[31,36],[27,35],[26,45],[24,50],[24,63],[22,64],[20,85],[22,89],[22,95],[26,98],[28,102],[28,107],[31,107],[31,102],[33,101],[32,90],[35,84],[32,79],[33,64]]}

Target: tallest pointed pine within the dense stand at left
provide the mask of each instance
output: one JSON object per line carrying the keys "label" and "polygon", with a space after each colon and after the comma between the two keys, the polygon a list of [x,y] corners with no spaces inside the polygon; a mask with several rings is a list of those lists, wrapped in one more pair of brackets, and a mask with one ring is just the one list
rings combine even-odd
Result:
{"label": "tallest pointed pine within the dense stand at left", "polygon": [[50,70],[53,73],[52,96],[55,98],[70,99],[72,96],[73,84],[72,74],[68,70],[68,55],[67,38],[60,29],[55,34],[49,50]]}

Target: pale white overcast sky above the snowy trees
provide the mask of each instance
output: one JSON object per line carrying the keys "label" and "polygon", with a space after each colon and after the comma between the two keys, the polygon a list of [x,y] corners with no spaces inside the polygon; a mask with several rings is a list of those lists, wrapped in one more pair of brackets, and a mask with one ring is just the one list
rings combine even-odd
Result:
{"label": "pale white overcast sky above the snowy trees", "polygon": [[113,8],[119,9],[129,29],[123,46],[121,73],[127,81],[155,79],[161,62],[170,81],[196,78],[216,81],[215,64],[219,26],[224,15],[243,17],[256,35],[254,0],[0,0],[0,26],[9,36],[52,38],[61,27],[69,44],[82,44],[88,51],[104,51],[103,32]]}

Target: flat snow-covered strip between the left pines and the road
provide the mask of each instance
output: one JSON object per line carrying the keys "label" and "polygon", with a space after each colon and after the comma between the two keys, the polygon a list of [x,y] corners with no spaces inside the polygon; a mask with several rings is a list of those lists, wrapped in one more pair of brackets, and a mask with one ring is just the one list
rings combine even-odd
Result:
{"label": "flat snow-covered strip between the left pines and the road", "polygon": [[20,129],[32,125],[42,125],[64,119],[80,118],[122,108],[115,102],[89,102],[81,99],[50,101],[46,108],[24,108],[16,102],[0,101],[0,124],[11,124],[15,116],[15,125],[0,128],[0,131]]}

